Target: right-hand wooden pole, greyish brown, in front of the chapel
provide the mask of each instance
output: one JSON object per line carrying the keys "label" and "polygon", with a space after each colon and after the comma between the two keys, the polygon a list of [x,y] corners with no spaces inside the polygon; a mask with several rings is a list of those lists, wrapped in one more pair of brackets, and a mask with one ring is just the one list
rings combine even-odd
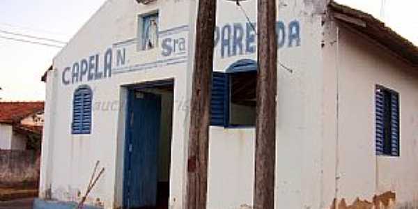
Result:
{"label": "right-hand wooden pole, greyish brown, in front of the chapel", "polygon": [[276,159],[276,0],[258,0],[258,75],[254,209],[274,208]]}

